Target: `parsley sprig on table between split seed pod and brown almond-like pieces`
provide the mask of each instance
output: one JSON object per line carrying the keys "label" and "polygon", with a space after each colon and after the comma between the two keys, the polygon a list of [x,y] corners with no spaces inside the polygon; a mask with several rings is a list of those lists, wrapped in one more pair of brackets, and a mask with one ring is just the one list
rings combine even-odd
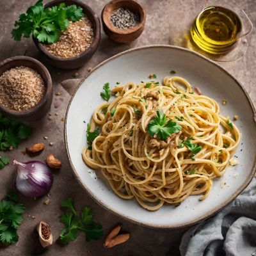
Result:
{"label": "parsley sprig on table between split seed pod and brown almond-like pieces", "polygon": [[65,245],[74,241],[79,236],[79,232],[85,234],[86,241],[97,240],[102,236],[102,226],[93,222],[90,207],[84,207],[81,210],[81,216],[77,214],[72,198],[64,200],[61,207],[67,209],[67,212],[61,214],[61,222],[65,225],[60,232],[61,243]]}

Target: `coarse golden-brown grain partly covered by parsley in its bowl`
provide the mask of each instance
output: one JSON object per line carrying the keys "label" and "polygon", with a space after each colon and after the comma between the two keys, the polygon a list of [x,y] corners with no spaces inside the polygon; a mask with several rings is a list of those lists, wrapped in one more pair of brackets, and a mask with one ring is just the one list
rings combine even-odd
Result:
{"label": "coarse golden-brown grain partly covered by parsley in its bowl", "polygon": [[70,58],[85,51],[93,42],[94,33],[92,22],[84,16],[81,20],[71,22],[60,35],[60,39],[53,44],[44,45],[51,54]]}

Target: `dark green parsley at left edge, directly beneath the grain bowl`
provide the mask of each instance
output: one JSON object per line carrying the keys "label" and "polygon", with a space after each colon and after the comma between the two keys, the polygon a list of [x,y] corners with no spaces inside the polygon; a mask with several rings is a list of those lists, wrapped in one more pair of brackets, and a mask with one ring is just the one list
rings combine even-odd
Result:
{"label": "dark green parsley at left edge, directly beneath the grain bowl", "polygon": [[17,148],[21,141],[31,135],[31,128],[20,122],[13,121],[0,113],[0,150],[10,147]]}

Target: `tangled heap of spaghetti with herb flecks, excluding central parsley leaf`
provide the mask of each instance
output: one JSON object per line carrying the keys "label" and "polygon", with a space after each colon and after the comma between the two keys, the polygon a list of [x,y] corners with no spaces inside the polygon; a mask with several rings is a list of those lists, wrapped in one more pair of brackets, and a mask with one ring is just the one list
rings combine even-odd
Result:
{"label": "tangled heap of spaghetti with herb flecks, excluding central parsley leaf", "polygon": [[[217,102],[196,95],[177,76],[164,77],[163,84],[127,83],[112,93],[116,99],[93,113],[90,128],[101,129],[92,150],[84,148],[84,162],[102,170],[116,195],[136,198],[150,211],[180,204],[189,195],[201,194],[204,200],[240,140],[236,125],[220,115]],[[165,140],[148,132],[157,111],[180,127]]]}

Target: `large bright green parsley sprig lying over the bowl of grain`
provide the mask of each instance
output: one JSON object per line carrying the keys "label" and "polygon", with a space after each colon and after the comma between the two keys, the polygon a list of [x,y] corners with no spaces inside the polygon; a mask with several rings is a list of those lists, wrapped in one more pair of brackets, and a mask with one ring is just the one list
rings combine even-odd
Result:
{"label": "large bright green parsley sprig lying over the bowl of grain", "polygon": [[29,38],[32,34],[39,42],[52,44],[58,41],[60,33],[67,29],[69,20],[80,20],[83,15],[83,9],[76,4],[66,6],[61,3],[44,8],[43,1],[39,0],[15,21],[12,38],[20,41],[22,36]]}

